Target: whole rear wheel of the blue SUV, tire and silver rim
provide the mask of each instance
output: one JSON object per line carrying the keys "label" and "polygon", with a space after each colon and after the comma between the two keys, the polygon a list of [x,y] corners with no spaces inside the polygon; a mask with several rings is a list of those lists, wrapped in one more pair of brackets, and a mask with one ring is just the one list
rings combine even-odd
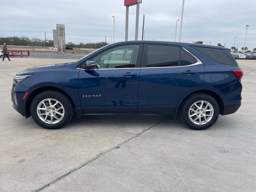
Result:
{"label": "whole rear wheel of the blue SUV, tire and silver rim", "polygon": [[218,119],[218,102],[208,94],[196,94],[186,100],[181,110],[181,119],[194,130],[204,130]]}

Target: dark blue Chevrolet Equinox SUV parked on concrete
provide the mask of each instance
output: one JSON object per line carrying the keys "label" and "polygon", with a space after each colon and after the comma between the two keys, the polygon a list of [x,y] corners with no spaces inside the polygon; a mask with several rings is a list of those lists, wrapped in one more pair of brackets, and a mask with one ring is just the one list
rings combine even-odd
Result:
{"label": "dark blue Chevrolet Equinox SUV parked on concrete", "polygon": [[74,114],[161,114],[203,130],[238,110],[242,76],[227,48],[128,41],[19,72],[11,97],[15,110],[48,129]]}

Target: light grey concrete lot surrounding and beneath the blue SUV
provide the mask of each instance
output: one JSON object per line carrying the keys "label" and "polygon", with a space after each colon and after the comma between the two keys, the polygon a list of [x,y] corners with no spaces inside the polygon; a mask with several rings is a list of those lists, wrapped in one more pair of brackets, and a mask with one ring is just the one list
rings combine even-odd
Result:
{"label": "light grey concrete lot surrounding and beneath the blue SUV", "polygon": [[166,116],[133,115],[84,116],[46,130],[12,109],[16,72],[69,61],[0,63],[1,192],[256,191],[255,60],[238,61],[241,108],[204,131]]}

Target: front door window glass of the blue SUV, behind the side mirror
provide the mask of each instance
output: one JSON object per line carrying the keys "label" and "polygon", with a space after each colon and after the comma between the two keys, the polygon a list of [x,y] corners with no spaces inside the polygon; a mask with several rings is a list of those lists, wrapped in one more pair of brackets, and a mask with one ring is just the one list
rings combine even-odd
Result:
{"label": "front door window glass of the blue SUV, behind the side mirror", "polygon": [[135,68],[139,45],[123,45],[106,50],[93,57],[96,68]]}

